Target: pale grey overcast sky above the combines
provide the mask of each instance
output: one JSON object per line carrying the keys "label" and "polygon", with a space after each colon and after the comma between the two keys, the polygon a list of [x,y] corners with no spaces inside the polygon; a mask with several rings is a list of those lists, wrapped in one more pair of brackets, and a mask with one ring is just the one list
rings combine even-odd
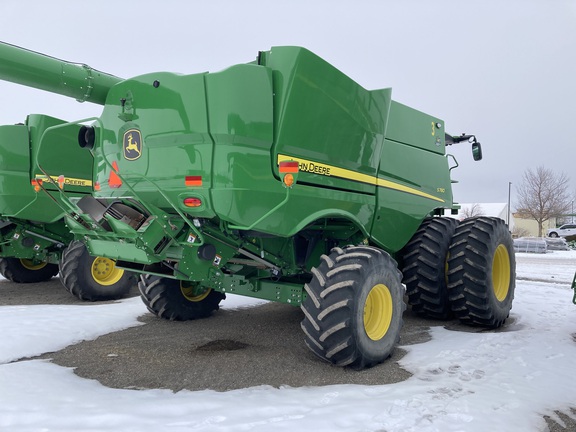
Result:
{"label": "pale grey overcast sky above the combines", "polygon": [[[449,150],[455,200],[506,202],[526,169],[567,174],[576,193],[575,0],[2,0],[0,40],[129,78],[218,71],[299,45],[367,89],[476,134]],[[1,61],[1,60],[0,60]],[[0,124],[76,120],[99,105],[0,82]]]}

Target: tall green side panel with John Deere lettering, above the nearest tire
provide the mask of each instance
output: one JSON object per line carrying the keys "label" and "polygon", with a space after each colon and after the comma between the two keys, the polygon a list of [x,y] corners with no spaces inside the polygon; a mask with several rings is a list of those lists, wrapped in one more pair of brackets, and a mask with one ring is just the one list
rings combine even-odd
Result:
{"label": "tall green side panel with John Deere lettering, above the nearest tire", "polygon": [[367,235],[390,91],[367,91],[302,48],[273,48],[261,64],[272,70],[274,144],[261,161],[269,164],[268,173],[253,180],[269,186],[252,186],[266,204],[245,206],[240,219],[250,224],[282,202],[277,165],[293,159],[300,173],[288,203],[254,229],[290,236],[317,219],[339,218]]}

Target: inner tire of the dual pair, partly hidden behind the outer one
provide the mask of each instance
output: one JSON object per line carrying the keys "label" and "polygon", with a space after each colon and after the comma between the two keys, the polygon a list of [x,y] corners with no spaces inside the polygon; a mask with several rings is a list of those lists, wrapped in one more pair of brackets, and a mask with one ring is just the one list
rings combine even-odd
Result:
{"label": "inner tire of the dual pair, partly hidden behind the outer one", "polygon": [[402,251],[408,304],[426,318],[453,316],[448,299],[448,249],[458,221],[426,219]]}

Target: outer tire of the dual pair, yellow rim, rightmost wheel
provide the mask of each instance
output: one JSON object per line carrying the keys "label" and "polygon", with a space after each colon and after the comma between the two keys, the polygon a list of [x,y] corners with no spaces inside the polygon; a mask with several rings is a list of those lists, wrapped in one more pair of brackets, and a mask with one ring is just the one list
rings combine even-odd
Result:
{"label": "outer tire of the dual pair, yellow rim, rightmost wheel", "polygon": [[448,290],[463,323],[500,327],[512,309],[516,257],[502,219],[476,217],[460,223],[450,246]]}

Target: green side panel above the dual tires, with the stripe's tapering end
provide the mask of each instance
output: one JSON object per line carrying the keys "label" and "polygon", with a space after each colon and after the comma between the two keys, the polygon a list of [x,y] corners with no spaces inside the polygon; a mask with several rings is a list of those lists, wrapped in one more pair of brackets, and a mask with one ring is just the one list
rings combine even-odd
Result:
{"label": "green side panel above the dual tires, with the stripe's tapering end", "polygon": [[427,215],[452,206],[443,122],[392,102],[378,177],[378,209],[371,236],[394,253]]}

